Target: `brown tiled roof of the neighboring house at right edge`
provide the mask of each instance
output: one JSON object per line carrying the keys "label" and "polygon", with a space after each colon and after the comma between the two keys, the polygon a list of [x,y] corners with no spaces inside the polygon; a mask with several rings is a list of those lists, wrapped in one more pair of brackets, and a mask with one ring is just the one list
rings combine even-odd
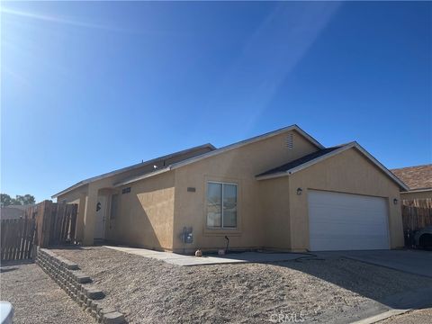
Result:
{"label": "brown tiled roof of the neighboring house at right edge", "polygon": [[396,168],[392,173],[408,184],[410,191],[432,190],[432,164]]}

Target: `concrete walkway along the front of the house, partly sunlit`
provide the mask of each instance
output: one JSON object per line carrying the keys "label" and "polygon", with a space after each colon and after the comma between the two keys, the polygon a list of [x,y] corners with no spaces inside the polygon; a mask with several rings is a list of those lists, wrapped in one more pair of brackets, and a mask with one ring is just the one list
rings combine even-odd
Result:
{"label": "concrete walkway along the front of the house, partly sunlit", "polygon": [[308,257],[305,254],[296,253],[260,253],[260,252],[244,252],[233,253],[226,256],[184,256],[171,252],[160,252],[149,250],[146,248],[136,247],[112,247],[104,246],[115,249],[117,251],[130,253],[140,257],[152,257],[157,260],[165,261],[166,263],[176,266],[209,266],[220,264],[237,264],[237,263],[266,263],[266,262],[282,262],[294,260],[299,257]]}

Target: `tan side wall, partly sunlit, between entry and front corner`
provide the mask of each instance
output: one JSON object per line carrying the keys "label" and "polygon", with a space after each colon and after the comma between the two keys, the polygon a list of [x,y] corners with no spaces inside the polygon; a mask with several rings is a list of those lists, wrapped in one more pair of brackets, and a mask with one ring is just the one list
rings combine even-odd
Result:
{"label": "tan side wall, partly sunlit, between entry and front corner", "polygon": [[[130,193],[121,193],[121,189],[127,186],[130,186]],[[171,250],[174,172],[127,186],[118,190],[118,212],[114,219],[108,215],[105,238],[139,247]]]}

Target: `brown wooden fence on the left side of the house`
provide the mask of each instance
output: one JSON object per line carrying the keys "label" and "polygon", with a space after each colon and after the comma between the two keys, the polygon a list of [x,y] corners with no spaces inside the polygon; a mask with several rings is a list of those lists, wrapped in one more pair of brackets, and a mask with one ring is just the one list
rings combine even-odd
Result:
{"label": "brown wooden fence on the left side of the house", "polygon": [[1,220],[1,260],[31,258],[33,245],[49,247],[74,242],[77,204],[44,201],[18,220]]}

